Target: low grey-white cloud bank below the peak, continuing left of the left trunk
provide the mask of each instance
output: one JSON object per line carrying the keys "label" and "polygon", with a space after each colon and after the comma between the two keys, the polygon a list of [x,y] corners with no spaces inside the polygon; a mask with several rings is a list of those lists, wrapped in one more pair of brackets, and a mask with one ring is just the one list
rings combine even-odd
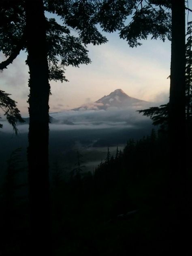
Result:
{"label": "low grey-white cloud bank below the peak, continuing left of the left trunk", "polygon": [[[126,108],[109,107],[107,110],[63,111],[50,113],[50,130],[78,130],[78,129],[103,129],[103,128],[142,128],[148,117],[139,114],[137,110],[148,106],[132,106]],[[149,121],[150,122],[150,121]],[[2,121],[2,132],[13,132],[12,127]],[[28,132],[28,124],[18,124],[20,133]]]}

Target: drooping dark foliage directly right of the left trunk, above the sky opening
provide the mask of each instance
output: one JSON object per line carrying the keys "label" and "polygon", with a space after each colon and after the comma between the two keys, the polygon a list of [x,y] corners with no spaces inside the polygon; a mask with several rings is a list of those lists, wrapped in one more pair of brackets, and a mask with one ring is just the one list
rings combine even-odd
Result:
{"label": "drooping dark foliage directly right of the left trunk, above the sky opening", "polygon": [[55,19],[47,19],[47,47],[49,80],[67,81],[64,66],[90,63],[80,38],[71,36],[69,28],[59,25]]}

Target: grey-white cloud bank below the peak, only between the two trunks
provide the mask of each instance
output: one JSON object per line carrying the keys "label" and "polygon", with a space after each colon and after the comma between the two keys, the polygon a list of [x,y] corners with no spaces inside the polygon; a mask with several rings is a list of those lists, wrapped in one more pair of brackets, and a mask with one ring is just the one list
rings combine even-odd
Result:
{"label": "grey-white cloud bank below the peak, only between the two trunks", "polygon": [[[148,105],[148,107],[151,105]],[[147,105],[144,109],[147,108]],[[58,127],[58,129],[99,129],[99,128],[122,128],[134,127],[138,124],[149,120],[148,117],[139,114],[137,110],[143,109],[143,106],[132,106],[126,108],[108,107],[107,110],[83,110],[81,111],[63,111],[60,113],[53,113],[51,116],[58,120],[57,126],[55,124],[51,127]],[[73,122],[73,126],[62,126],[63,121]],[[61,127],[62,126],[62,127]]]}

